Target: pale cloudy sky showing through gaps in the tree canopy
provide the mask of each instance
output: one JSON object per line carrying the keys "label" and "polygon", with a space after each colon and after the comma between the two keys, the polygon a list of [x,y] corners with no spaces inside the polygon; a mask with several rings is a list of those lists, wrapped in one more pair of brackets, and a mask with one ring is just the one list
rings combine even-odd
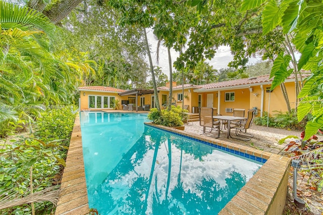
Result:
{"label": "pale cloudy sky showing through gaps in the tree canopy", "polygon": [[[157,49],[157,40],[153,37],[152,29],[147,30],[148,43],[150,45],[151,58],[154,66],[161,67],[163,73],[169,77],[169,66],[168,66],[168,53],[167,48],[160,46],[159,48],[159,65],[156,63],[156,49]],[[174,49],[171,49],[172,62],[174,63],[179,56],[179,53]],[[220,46],[217,50],[217,53],[214,55],[214,58],[211,61],[206,61],[214,69],[227,68],[228,63],[233,60],[229,46]],[[250,58],[248,64],[254,64],[260,61],[260,58]],[[146,62],[149,63],[148,57],[146,57]],[[173,72],[175,68],[173,67]]]}

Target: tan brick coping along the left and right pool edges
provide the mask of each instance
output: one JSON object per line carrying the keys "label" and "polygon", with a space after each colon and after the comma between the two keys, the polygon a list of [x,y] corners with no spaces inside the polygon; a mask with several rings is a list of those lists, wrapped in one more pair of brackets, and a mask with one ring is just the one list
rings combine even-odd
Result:
{"label": "tan brick coping along the left and right pool edges", "polygon": [[[264,163],[255,175],[242,187],[219,214],[281,214],[287,197],[290,158],[261,151],[203,135],[156,125],[145,126],[166,130],[215,148],[243,153],[251,159]],[[253,156],[253,157],[250,157]],[[261,161],[259,160],[261,158]],[[70,147],[66,158],[60,198],[55,214],[88,214],[90,211],[85,181],[80,115],[75,118]]]}

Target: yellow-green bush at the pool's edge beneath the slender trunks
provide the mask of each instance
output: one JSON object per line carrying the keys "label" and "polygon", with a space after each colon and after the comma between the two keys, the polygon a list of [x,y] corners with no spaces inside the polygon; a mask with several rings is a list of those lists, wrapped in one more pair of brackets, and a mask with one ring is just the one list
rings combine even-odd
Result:
{"label": "yellow-green bush at the pool's edge beneath the slender trunks", "polygon": [[157,125],[168,127],[182,126],[184,124],[182,121],[183,116],[180,113],[185,111],[187,110],[183,110],[179,106],[172,106],[171,111],[161,110],[160,112],[154,108],[150,109],[148,119]]}

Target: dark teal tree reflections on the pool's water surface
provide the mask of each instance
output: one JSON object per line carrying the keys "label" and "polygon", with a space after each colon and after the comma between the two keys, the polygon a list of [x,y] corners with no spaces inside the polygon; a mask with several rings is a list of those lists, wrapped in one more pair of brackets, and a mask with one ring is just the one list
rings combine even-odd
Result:
{"label": "dark teal tree reflections on the pool's water surface", "polygon": [[[150,135],[150,132],[153,134]],[[207,176],[207,174],[202,176],[200,181],[196,181],[195,186],[184,187],[183,180],[181,179],[182,166],[185,161],[183,156],[185,154],[186,156],[187,154],[192,154],[196,160],[203,160],[202,156],[211,153],[212,149],[195,146],[195,143],[181,140],[168,133],[163,133],[163,135],[156,134],[158,132],[157,130],[144,132],[136,144],[123,156],[123,159],[120,160],[110,175],[107,176],[102,184],[102,189],[97,191],[104,196],[104,200],[95,199],[95,201],[101,201],[99,203],[101,205],[109,205],[110,212],[116,212],[117,210],[119,213],[183,214],[185,212],[203,214],[209,211],[216,214],[245,184],[246,177],[233,171],[228,173],[227,184],[222,187],[213,178]],[[168,176],[165,184],[166,187],[164,186],[166,189],[163,191],[161,188],[163,186],[159,186],[159,188],[157,186],[158,177],[154,172],[159,147],[161,144],[166,143],[166,141]],[[174,187],[171,186],[171,179],[174,174],[172,174],[172,144],[173,147],[175,146],[180,149],[179,172]],[[149,151],[152,152],[152,150],[153,157],[148,177],[135,170],[138,166],[142,165],[145,154],[149,154]],[[116,198],[116,193],[119,192],[120,186],[124,186],[121,182],[125,181],[124,177],[129,176],[132,176],[132,178],[130,178],[131,180],[126,185],[126,188],[121,187],[121,192],[125,192],[124,196]],[[152,182],[155,183],[154,189],[152,195],[149,195],[151,193],[150,187]],[[116,186],[118,183],[119,185]],[[230,192],[232,190],[234,192]],[[164,194],[165,198],[161,200]],[[152,198],[151,208],[148,208],[149,198]],[[222,206],[219,207],[219,205]]]}

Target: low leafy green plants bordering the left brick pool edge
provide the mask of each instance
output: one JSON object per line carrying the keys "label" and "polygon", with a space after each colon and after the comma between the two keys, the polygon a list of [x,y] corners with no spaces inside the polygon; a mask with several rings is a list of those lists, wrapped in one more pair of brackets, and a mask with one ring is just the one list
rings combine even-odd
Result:
{"label": "low leafy green plants bordering the left brick pool edge", "polygon": [[[1,142],[0,208],[4,207],[6,197],[21,199],[32,190],[37,192],[59,184],[74,119],[70,106],[47,109],[36,121],[34,134]],[[53,198],[57,192],[49,194],[47,197]],[[31,204],[23,204],[2,209],[0,213],[32,214],[34,210],[35,214],[49,214],[54,208],[51,202],[44,201],[35,203],[34,209]]]}

